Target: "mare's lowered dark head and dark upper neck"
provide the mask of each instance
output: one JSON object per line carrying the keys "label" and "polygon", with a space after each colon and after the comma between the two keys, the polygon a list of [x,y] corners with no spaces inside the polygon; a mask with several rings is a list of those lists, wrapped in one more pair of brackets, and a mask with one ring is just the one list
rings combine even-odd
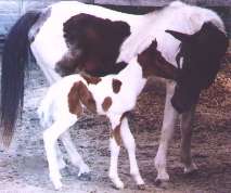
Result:
{"label": "mare's lowered dark head and dark upper neck", "polygon": [[181,41],[176,60],[178,66],[182,66],[171,103],[183,113],[196,104],[201,91],[214,82],[228,48],[228,37],[210,22],[193,35],[166,31]]}

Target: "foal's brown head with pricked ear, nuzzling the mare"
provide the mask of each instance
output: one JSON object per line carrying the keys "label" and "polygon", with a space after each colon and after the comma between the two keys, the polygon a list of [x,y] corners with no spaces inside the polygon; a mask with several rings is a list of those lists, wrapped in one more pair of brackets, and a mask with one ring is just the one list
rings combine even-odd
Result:
{"label": "foal's brown head with pricked ear, nuzzling the mare", "polygon": [[156,40],[138,55],[138,62],[142,67],[144,78],[149,76],[158,76],[176,80],[178,77],[178,68],[163,57],[162,53],[157,50]]}

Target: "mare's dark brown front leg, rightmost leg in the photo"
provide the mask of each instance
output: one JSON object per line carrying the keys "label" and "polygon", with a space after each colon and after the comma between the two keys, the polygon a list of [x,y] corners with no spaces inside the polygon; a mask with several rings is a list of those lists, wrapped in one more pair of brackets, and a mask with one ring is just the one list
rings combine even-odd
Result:
{"label": "mare's dark brown front leg, rightmost leg in the photo", "polygon": [[191,138],[194,114],[195,105],[181,116],[181,162],[184,165],[185,173],[197,169],[196,165],[192,162],[191,156]]}

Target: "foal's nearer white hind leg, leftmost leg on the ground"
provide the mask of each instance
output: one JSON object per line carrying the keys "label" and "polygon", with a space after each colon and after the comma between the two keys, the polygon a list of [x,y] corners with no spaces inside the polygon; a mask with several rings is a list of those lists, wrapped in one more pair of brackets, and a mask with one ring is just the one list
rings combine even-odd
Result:
{"label": "foal's nearer white hind leg, leftmost leg on the ground", "polygon": [[44,149],[47,152],[47,158],[49,164],[50,179],[53,182],[55,189],[60,189],[62,186],[56,154],[56,142],[59,137],[63,132],[65,132],[72,125],[74,125],[75,121],[76,118],[73,117],[68,117],[67,119],[59,119],[43,132]]}

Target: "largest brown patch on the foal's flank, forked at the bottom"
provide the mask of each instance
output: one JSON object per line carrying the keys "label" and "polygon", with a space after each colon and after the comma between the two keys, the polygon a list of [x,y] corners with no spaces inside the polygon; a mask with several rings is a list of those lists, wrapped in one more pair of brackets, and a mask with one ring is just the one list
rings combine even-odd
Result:
{"label": "largest brown patch on the foal's flank, forked at the bottom", "polygon": [[77,81],[74,83],[68,94],[69,112],[77,116],[81,115],[81,103],[92,113],[97,113],[97,104],[92,93],[82,81]]}

